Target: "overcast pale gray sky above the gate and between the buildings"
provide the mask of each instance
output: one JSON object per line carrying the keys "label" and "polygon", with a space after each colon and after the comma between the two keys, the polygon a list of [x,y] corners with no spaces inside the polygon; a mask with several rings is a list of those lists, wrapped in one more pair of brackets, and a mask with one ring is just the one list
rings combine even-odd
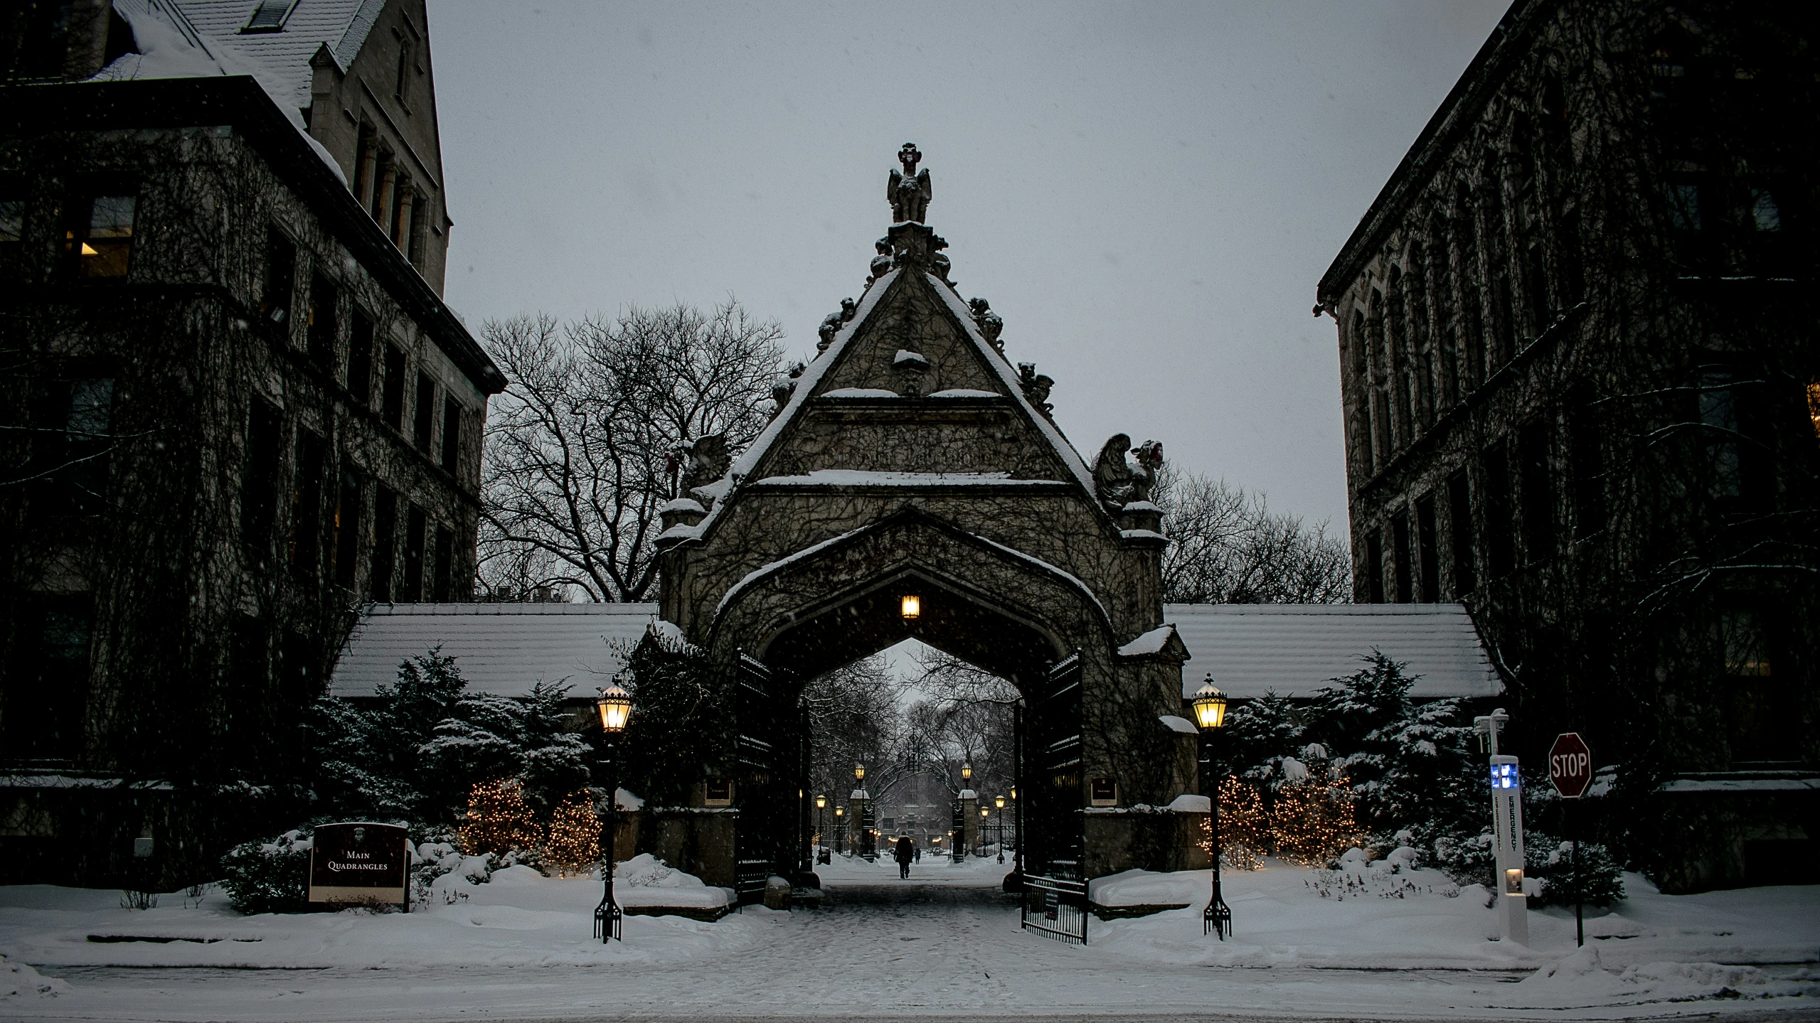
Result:
{"label": "overcast pale gray sky above the gate and between the buildings", "polygon": [[1112,433],[1345,528],[1314,282],[1507,0],[430,0],[448,300],[728,293],[795,357],[859,297],[903,142],[961,295]]}

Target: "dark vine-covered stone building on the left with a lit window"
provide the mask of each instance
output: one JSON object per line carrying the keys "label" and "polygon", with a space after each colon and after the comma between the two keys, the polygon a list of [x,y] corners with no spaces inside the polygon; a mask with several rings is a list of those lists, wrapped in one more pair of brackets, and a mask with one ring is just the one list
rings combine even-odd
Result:
{"label": "dark vine-covered stone building on the left with a lit window", "polygon": [[360,604],[470,597],[502,377],[422,2],[64,7],[0,91],[0,861],[157,881],[269,825]]}

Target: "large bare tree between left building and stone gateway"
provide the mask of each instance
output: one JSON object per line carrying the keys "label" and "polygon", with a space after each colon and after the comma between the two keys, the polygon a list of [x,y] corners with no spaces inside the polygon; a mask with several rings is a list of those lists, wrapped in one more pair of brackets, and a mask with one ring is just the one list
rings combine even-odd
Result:
{"label": "large bare tree between left building and stone gateway", "polygon": [[668,461],[699,437],[724,435],[735,451],[757,437],[783,328],[728,299],[712,311],[490,320],[482,333],[508,386],[488,419],[480,592],[650,597]]}

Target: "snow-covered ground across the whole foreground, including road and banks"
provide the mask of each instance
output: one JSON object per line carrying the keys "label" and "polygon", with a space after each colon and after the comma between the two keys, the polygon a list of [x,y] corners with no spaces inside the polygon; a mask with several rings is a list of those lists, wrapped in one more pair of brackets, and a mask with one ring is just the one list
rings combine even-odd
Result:
{"label": "snow-covered ground across the whole foreground, including road and banks", "polygon": [[599,881],[528,868],[453,905],[380,916],[242,917],[220,894],[127,910],[116,892],[11,886],[0,1016],[1611,1019],[1820,1007],[1820,886],[1673,897],[1627,876],[1631,897],[1591,917],[1576,952],[1571,910],[1532,914],[1534,947],[1507,947],[1489,941],[1478,888],[1451,894],[1427,870],[1354,872],[1350,886],[1278,863],[1228,874],[1236,934],[1223,943],[1201,934],[1205,874],[1127,874],[1096,897],[1188,908],[1094,919],[1083,948],[1021,932],[1003,870],[925,856],[899,881],[888,859],[837,857],[819,870],[819,910],[633,916],[608,947],[590,939]]}

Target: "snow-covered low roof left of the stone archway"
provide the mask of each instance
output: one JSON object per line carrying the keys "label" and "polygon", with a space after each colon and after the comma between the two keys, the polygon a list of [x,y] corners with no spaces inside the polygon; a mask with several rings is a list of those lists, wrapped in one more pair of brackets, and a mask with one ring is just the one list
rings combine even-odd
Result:
{"label": "snow-covered low roof left of the stone archway", "polygon": [[524,695],[539,681],[586,694],[624,664],[612,639],[637,643],[657,604],[373,604],[335,664],[329,695],[373,695],[399,663],[433,646],[455,657],[468,692]]}

